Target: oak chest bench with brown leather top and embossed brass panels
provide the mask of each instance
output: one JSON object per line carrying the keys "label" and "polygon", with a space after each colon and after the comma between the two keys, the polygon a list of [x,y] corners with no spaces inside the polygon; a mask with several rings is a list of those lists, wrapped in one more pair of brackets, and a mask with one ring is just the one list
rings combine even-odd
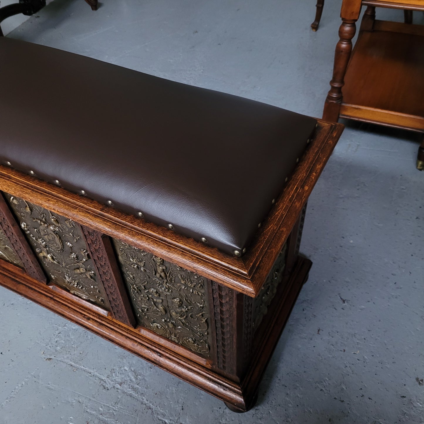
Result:
{"label": "oak chest bench with brown leather top and embossed brass panels", "polygon": [[7,38],[0,75],[1,285],[251,408],[343,126]]}

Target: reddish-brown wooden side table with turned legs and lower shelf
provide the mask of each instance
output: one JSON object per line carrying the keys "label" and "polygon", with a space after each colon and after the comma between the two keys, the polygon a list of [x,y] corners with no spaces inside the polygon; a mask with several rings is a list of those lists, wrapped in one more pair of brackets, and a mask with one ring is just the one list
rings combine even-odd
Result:
{"label": "reddish-brown wooden side table with turned legs and lower shelf", "polygon": [[[352,50],[362,6],[368,7]],[[343,0],[323,119],[343,117],[424,133],[424,26],[376,20],[376,7],[424,11],[424,1]],[[417,168],[424,169],[424,141]]]}

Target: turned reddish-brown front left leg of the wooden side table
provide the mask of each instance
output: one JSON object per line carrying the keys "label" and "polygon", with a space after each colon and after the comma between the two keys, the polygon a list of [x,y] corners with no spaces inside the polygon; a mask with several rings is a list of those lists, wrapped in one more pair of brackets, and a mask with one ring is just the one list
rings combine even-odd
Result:
{"label": "turned reddish-brown front left leg of the wooden side table", "polygon": [[337,122],[339,118],[340,104],[343,98],[342,87],[352,51],[352,38],[356,32],[357,19],[347,20],[342,18],[342,21],[339,29],[340,39],[336,45],[334,57],[333,78],[330,81],[331,89],[327,94],[323,112],[323,119],[331,122]]}

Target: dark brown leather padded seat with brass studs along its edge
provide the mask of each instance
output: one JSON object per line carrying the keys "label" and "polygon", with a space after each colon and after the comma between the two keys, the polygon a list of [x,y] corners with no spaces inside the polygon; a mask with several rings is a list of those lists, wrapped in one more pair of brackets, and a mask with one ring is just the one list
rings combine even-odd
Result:
{"label": "dark brown leather padded seat with brass studs along its edge", "polygon": [[248,246],[316,124],[5,37],[0,75],[3,165],[230,254]]}

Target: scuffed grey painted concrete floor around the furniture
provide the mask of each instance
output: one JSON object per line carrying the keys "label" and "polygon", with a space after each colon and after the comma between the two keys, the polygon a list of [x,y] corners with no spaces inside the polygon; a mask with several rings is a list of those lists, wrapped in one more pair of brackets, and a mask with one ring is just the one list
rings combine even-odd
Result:
{"label": "scuffed grey painted concrete floor around the furniture", "polygon": [[[326,0],[317,33],[314,3],[115,0],[92,12],[83,0],[54,0],[9,36],[320,117],[340,1]],[[87,119],[95,125],[99,114]],[[0,422],[424,423],[418,140],[347,126],[309,201],[301,245],[314,262],[309,282],[253,410],[232,413],[1,288]]]}

